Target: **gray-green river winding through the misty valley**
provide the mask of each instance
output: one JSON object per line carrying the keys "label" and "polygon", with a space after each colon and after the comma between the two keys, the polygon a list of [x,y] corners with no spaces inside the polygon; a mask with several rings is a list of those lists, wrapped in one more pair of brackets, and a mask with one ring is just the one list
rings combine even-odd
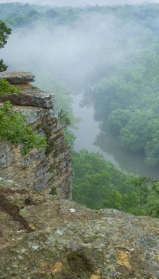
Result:
{"label": "gray-green river winding through the misty valley", "polygon": [[82,121],[78,124],[78,130],[73,130],[76,135],[75,151],[87,149],[100,152],[106,160],[112,162],[123,172],[132,172],[139,176],[148,176],[151,179],[159,179],[158,166],[152,167],[144,161],[144,155],[132,154],[125,151],[117,137],[108,135],[105,137],[100,131],[100,123],[93,119],[93,106],[80,107],[82,93],[73,96],[73,112],[75,117]]}

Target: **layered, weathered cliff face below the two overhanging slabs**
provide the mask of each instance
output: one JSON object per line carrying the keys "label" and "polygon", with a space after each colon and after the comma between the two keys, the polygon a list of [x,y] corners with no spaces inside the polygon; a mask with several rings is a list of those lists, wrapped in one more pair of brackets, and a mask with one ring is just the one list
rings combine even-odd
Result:
{"label": "layered, weathered cliff face below the two overhanging slabs", "polygon": [[20,106],[16,109],[27,115],[27,123],[33,125],[36,133],[45,136],[47,149],[41,152],[32,149],[22,156],[20,146],[0,142],[0,176],[36,191],[52,190],[54,195],[70,199],[73,171],[61,125],[48,110]]}

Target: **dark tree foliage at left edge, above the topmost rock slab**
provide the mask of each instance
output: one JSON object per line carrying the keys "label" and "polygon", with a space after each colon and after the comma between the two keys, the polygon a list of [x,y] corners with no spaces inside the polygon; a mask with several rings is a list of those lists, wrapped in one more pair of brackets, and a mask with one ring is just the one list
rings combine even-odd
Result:
{"label": "dark tree foliage at left edge, above the topmost rock slab", "polygon": [[[0,20],[0,48],[3,48],[7,43],[8,36],[11,34],[11,29],[6,27],[6,24]],[[3,63],[3,59],[0,59],[0,72],[7,69],[7,66]]]}

